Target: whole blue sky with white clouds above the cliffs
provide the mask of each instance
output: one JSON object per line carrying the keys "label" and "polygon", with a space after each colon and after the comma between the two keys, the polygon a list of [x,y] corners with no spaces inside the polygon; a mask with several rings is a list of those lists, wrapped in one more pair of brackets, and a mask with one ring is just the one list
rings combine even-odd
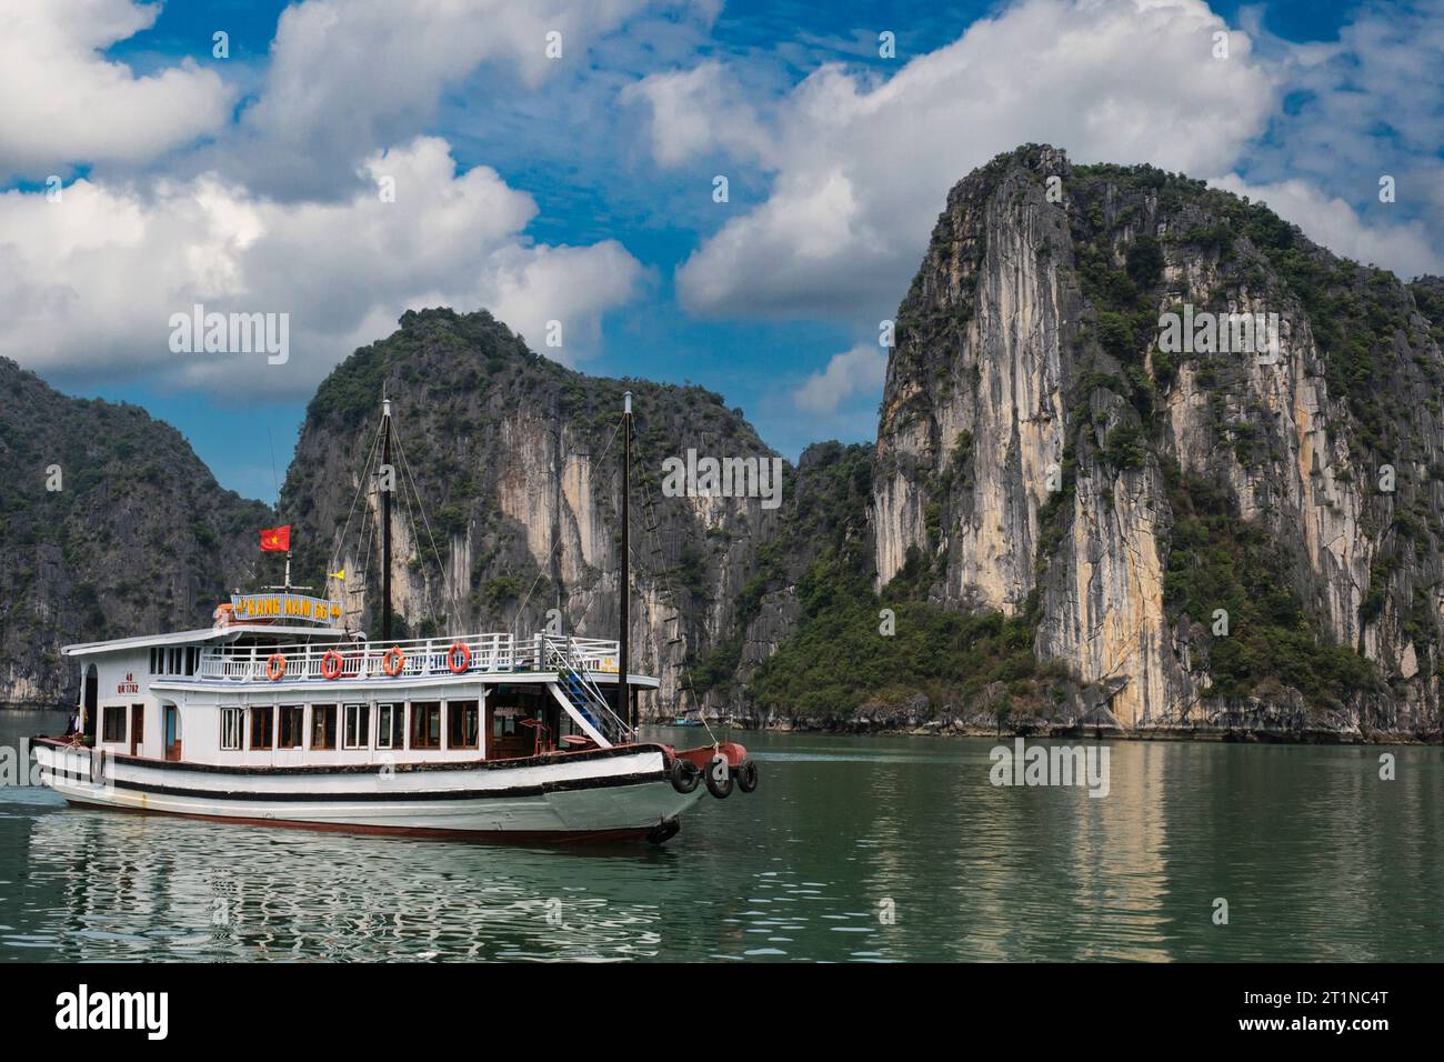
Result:
{"label": "whole blue sky with white clouds above the cliffs", "polygon": [[[790,458],[871,439],[877,322],[946,189],[1028,140],[1184,169],[1340,253],[1440,272],[1437,3],[43,10],[0,14],[0,90],[27,90],[0,92],[0,354],[143,405],[264,500],[315,383],[435,302],[588,373],[705,384]],[[193,301],[289,314],[290,360],[172,353]]]}

